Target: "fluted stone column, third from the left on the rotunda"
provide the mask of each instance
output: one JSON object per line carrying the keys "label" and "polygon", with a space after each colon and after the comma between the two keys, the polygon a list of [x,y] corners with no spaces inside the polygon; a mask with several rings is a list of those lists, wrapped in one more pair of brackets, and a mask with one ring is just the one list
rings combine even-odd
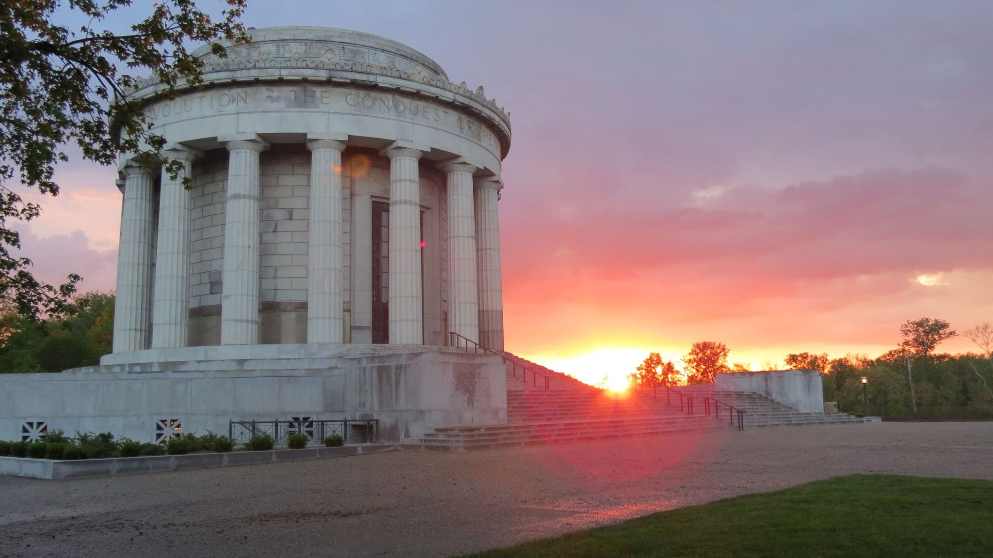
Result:
{"label": "fluted stone column, third from the left on the rotunda", "polygon": [[252,140],[226,144],[224,272],[220,295],[220,344],[258,343],[258,154]]}

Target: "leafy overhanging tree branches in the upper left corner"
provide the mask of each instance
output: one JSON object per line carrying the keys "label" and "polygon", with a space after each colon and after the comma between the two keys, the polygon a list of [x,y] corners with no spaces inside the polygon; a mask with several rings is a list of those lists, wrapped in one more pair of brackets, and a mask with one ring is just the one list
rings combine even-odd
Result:
{"label": "leafy overhanging tree branches in the upper left corner", "polygon": [[[238,23],[247,0],[221,0],[227,9],[214,22],[194,0],[161,0],[151,15],[117,35],[104,29],[105,18],[131,0],[3,0],[0,4],[0,298],[14,301],[21,315],[37,318],[60,313],[80,279],[71,274],[56,288],[37,281],[31,260],[15,256],[21,236],[11,220],[30,220],[41,208],[12,189],[57,196],[55,166],[68,161],[63,151],[75,143],[83,159],[111,165],[119,153],[155,154],[165,139],[152,133],[139,100],[128,95],[134,76],[118,70],[150,72],[162,95],[175,98],[177,85],[202,83],[203,62],[187,52],[188,42],[246,42]],[[81,28],[55,23],[76,17]],[[179,176],[179,165],[167,170]]]}

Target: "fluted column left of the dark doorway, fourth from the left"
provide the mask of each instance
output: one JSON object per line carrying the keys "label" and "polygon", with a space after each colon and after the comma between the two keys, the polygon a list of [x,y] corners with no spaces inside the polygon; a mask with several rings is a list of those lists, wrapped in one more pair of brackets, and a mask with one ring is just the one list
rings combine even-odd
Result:
{"label": "fluted column left of the dark doorway, fourth from the left", "polygon": [[311,150],[307,343],[342,343],[342,151],[334,140]]}

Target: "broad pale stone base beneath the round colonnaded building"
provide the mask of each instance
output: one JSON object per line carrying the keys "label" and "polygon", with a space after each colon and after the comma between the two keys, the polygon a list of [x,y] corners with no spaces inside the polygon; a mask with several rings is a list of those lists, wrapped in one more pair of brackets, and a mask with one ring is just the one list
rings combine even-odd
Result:
{"label": "broad pale stone base beneath the round colonnaded building", "polygon": [[269,345],[108,354],[61,373],[0,374],[0,439],[27,422],[154,442],[158,421],[226,434],[230,420],[377,419],[398,442],[506,422],[497,355],[382,345]]}

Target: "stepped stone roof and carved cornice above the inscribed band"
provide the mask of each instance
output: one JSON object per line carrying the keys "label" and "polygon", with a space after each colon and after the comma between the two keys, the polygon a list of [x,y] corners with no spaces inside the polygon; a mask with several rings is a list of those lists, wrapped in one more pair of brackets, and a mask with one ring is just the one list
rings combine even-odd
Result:
{"label": "stepped stone roof and carved cornice above the inscribed band", "polygon": [[[441,67],[409,47],[340,29],[277,27],[251,30],[250,34],[252,43],[228,46],[226,59],[217,58],[210,47],[194,52],[205,63],[205,88],[198,90],[199,94],[184,95],[184,102],[193,104],[198,97],[208,97],[216,101],[212,108],[225,108],[238,101],[237,93],[221,99],[221,95],[232,92],[213,93],[212,89],[234,83],[300,81],[320,88],[323,81],[336,88],[382,89],[387,94],[404,96],[404,105],[428,101],[443,107],[441,110],[448,108],[475,116],[497,136],[499,159],[509,150],[509,113],[497,105],[496,99],[487,98],[482,86],[474,90],[465,81],[449,81]],[[135,84],[133,94],[138,98],[155,98],[163,88],[155,76],[136,78]],[[198,104],[198,108],[202,106]],[[321,107],[317,104],[314,108]],[[161,116],[161,111],[155,115]]]}

